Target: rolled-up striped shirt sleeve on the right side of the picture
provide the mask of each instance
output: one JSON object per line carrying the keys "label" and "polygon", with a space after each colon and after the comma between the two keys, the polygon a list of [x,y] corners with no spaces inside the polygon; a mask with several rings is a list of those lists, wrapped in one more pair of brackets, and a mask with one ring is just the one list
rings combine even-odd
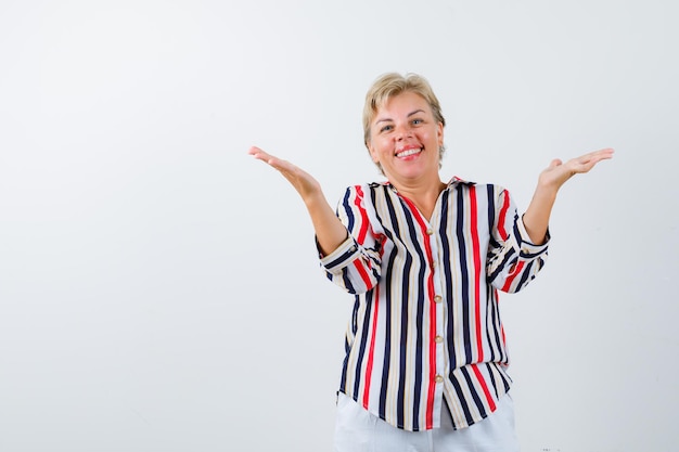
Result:
{"label": "rolled-up striped shirt sleeve on the right side of the picture", "polygon": [[545,243],[530,242],[523,217],[509,192],[498,190],[495,224],[488,249],[488,277],[494,287],[508,293],[524,288],[545,266],[550,233]]}

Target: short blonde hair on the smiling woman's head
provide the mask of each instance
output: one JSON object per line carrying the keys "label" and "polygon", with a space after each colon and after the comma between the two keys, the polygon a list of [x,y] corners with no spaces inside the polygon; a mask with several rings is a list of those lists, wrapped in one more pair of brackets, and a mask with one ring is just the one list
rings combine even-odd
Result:
{"label": "short blonde hair on the smiling woman's head", "polygon": [[[421,95],[432,108],[434,119],[446,127],[446,119],[441,113],[438,99],[424,77],[418,74],[406,74],[403,76],[398,73],[387,73],[380,76],[366,93],[366,104],[363,105],[363,143],[366,147],[368,147],[368,142],[371,138],[370,125],[375,118],[377,109],[389,99],[407,91]],[[445,146],[440,146],[438,150],[439,166],[445,151]],[[377,167],[382,171],[380,164],[377,164]]]}

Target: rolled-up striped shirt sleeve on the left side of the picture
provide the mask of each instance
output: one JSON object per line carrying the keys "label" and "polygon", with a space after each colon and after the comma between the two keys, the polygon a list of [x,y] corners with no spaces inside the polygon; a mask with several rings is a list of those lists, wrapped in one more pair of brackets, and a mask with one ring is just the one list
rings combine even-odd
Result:
{"label": "rolled-up striped shirt sleeve on the left side of the picture", "polygon": [[347,228],[348,237],[335,250],[323,255],[321,268],[329,280],[350,294],[362,294],[380,281],[382,238],[371,225],[363,186],[348,188],[337,206],[337,217]]}

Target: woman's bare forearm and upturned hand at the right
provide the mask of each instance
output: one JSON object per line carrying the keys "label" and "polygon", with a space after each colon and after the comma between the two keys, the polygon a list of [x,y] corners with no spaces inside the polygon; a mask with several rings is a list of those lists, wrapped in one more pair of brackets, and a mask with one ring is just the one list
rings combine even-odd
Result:
{"label": "woman's bare forearm and upturned hand at the right", "polygon": [[540,173],[538,186],[523,217],[526,232],[534,244],[545,243],[549,217],[561,186],[576,173],[588,172],[599,162],[611,157],[613,150],[605,148],[573,158],[565,164],[555,159]]}

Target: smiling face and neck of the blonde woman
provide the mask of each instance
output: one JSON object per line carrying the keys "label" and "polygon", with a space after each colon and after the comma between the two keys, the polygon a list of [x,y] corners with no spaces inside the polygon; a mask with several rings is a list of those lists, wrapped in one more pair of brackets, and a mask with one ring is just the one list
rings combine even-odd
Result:
{"label": "smiling face and neck of the blonde woman", "polygon": [[438,180],[444,126],[420,94],[402,92],[387,100],[370,126],[368,150],[390,182]]}

